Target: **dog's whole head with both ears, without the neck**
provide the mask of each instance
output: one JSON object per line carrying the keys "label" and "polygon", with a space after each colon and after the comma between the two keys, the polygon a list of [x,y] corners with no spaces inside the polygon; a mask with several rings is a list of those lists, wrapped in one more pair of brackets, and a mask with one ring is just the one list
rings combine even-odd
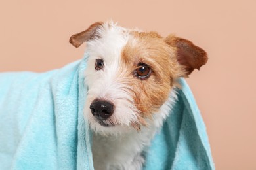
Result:
{"label": "dog's whole head with both ears, without the neck", "polygon": [[[97,22],[73,35],[78,47],[87,41],[85,116],[101,134],[139,130],[154,121],[177,86],[207,61],[206,53],[185,39],[125,29]],[[132,128],[131,128],[132,127]]]}

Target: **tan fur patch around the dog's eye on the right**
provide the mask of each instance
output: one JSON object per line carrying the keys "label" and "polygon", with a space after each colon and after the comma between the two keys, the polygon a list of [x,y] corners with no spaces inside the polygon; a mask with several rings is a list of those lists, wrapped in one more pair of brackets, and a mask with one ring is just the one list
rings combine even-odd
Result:
{"label": "tan fur patch around the dog's eye on the right", "polygon": [[[150,118],[167,101],[169,92],[181,71],[176,59],[176,48],[166,44],[158,33],[132,32],[121,54],[121,70],[127,71],[129,86],[135,106],[140,111],[137,115],[140,124],[144,118]],[[132,73],[139,63],[146,63],[152,74],[142,80]]]}

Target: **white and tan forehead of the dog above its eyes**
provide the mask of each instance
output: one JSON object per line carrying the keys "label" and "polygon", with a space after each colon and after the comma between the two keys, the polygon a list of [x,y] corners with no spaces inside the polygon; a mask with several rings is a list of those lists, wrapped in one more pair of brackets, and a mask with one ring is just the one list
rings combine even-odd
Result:
{"label": "white and tan forehead of the dog above its eyes", "polygon": [[117,25],[104,25],[98,30],[99,39],[87,43],[93,58],[110,62],[123,61],[136,65],[139,62],[159,64],[169,60],[174,50],[156,32],[125,29]]}

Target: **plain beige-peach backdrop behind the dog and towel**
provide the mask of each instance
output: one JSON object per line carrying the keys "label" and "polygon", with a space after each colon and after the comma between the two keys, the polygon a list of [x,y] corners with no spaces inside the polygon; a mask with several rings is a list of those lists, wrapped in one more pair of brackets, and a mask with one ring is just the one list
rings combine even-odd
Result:
{"label": "plain beige-peach backdrop behind the dog and towel", "polygon": [[176,33],[209,62],[188,79],[217,169],[256,169],[256,1],[1,1],[0,71],[47,71],[83,56],[70,35],[96,21]]}

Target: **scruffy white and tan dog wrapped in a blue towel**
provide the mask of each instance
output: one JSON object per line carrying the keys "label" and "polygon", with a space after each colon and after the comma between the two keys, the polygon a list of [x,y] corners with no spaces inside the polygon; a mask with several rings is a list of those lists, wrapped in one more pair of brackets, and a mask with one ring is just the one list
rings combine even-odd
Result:
{"label": "scruffy white and tan dog wrapped in a blue towel", "polygon": [[207,54],[186,39],[112,22],[96,22],[70,42],[87,42],[84,110],[95,169],[142,169],[142,152],[175,103],[177,79],[200,69]]}

